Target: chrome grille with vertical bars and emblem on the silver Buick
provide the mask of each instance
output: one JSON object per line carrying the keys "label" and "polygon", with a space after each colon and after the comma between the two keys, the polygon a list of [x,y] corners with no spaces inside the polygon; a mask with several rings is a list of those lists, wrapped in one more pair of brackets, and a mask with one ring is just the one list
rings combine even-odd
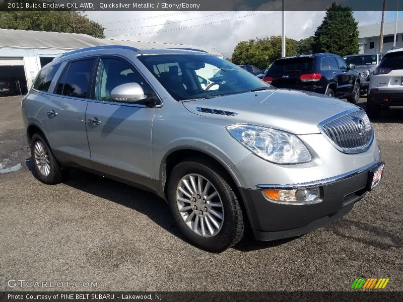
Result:
{"label": "chrome grille with vertical bars and emblem on the silver Buick", "polygon": [[343,153],[368,150],[374,137],[371,122],[364,110],[345,113],[319,124],[319,130]]}

